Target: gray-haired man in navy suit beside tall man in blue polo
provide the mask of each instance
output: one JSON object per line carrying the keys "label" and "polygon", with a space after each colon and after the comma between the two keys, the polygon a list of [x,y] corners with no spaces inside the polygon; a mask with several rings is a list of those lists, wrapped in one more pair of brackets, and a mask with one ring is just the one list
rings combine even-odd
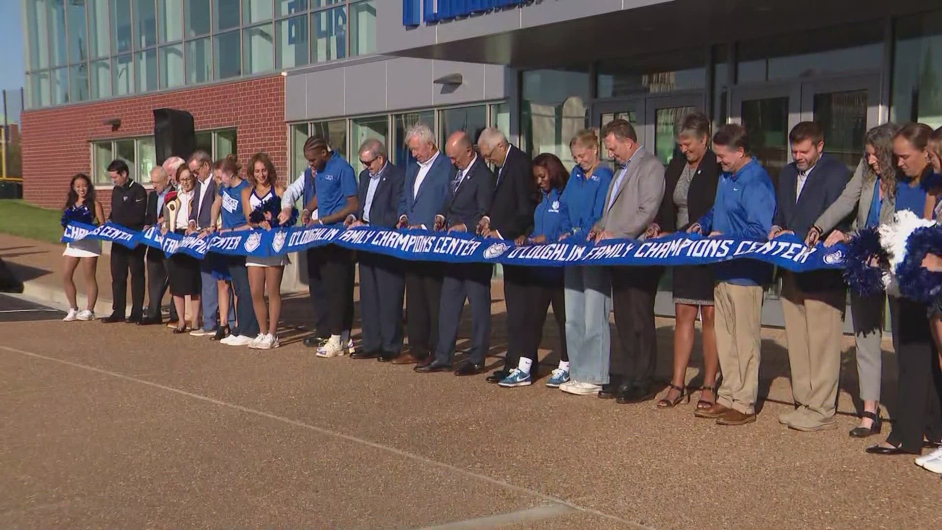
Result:
{"label": "gray-haired man in navy suit beside tall man in blue polo", "polygon": [[[349,228],[395,228],[405,174],[389,162],[382,141],[370,139],[360,146],[359,208],[347,216]],[[350,355],[390,361],[402,349],[402,297],[405,283],[401,261],[395,257],[360,253],[360,313],[363,348]]]}

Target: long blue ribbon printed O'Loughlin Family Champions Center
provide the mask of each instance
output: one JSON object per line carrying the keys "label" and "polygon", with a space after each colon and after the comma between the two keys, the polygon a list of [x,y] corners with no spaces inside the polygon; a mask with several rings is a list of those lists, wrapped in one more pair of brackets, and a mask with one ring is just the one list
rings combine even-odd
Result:
{"label": "long blue ribbon printed O'Loughlin Family Champions Center", "polygon": [[793,235],[771,241],[742,238],[706,238],[676,233],[657,240],[605,240],[598,244],[571,237],[567,240],[517,246],[510,240],[482,239],[464,232],[390,230],[362,226],[343,229],[323,226],[244,230],[214,234],[200,239],[152,227],[144,232],[117,224],[94,227],[71,223],[63,242],[89,238],[118,242],[129,248],[145,244],[167,256],[182,252],[202,258],[207,252],[229,256],[275,257],[312,247],[335,244],[351,250],[383,254],[401,259],[447,263],[504,263],[532,267],[566,265],[700,265],[731,259],[765,261],[796,273],[818,269],[840,269],[847,254],[843,244],[830,248],[804,246]]}

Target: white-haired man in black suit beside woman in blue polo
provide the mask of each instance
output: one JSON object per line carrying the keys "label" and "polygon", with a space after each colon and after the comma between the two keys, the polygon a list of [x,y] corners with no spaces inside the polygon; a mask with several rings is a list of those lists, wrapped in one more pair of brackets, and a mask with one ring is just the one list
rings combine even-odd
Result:
{"label": "white-haired man in black suit beside woman in blue polo", "polygon": [[[540,192],[533,179],[533,168],[526,153],[512,146],[504,133],[488,127],[480,133],[481,157],[497,166],[494,200],[480,219],[478,232],[486,238],[515,240],[533,230],[533,211],[540,203]],[[507,328],[526,329],[529,321],[529,291],[533,285],[528,267],[504,265],[504,301],[507,304]],[[512,332],[507,337],[504,368],[487,377],[488,383],[502,387],[532,384],[531,371],[540,362],[535,351],[528,353],[527,336]],[[530,358],[529,356],[533,356]]]}

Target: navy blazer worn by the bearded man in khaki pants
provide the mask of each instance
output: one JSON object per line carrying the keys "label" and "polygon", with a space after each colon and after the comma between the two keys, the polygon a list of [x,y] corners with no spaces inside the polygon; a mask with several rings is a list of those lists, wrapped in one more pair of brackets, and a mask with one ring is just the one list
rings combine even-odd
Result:
{"label": "navy blazer worn by the bearded man in khaki pants", "polygon": [[[815,224],[824,210],[837,200],[850,179],[851,172],[847,166],[836,157],[824,153],[808,174],[802,194],[796,202],[798,168],[794,162],[788,164],[778,177],[778,190],[776,190],[778,207],[771,224],[783,230],[792,230],[796,236],[804,239],[804,234],[808,233],[808,229]],[[849,224],[848,218],[836,228],[847,230]],[[844,280],[840,271],[797,273],[795,281],[798,288],[804,292],[844,289]]]}

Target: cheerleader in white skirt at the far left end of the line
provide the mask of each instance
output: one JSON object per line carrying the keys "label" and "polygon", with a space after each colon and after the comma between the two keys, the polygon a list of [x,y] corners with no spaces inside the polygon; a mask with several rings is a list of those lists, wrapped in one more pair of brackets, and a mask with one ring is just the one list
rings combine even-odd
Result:
{"label": "cheerleader in white skirt at the far left end of the line", "polygon": [[[102,204],[95,200],[95,188],[86,174],[74,174],[69,185],[69,196],[65,201],[62,212],[62,227],[70,222],[85,224],[105,224],[105,210]],[[69,313],[62,319],[65,322],[95,320],[95,302],[98,301],[98,281],[95,271],[98,268],[98,257],[102,255],[102,242],[99,240],[77,240],[67,243],[62,253],[64,267],[62,271],[62,284],[65,296],[69,299]],[[82,264],[85,272],[85,287],[88,292],[88,306],[78,310],[75,299],[75,282],[73,275],[78,264]]]}

